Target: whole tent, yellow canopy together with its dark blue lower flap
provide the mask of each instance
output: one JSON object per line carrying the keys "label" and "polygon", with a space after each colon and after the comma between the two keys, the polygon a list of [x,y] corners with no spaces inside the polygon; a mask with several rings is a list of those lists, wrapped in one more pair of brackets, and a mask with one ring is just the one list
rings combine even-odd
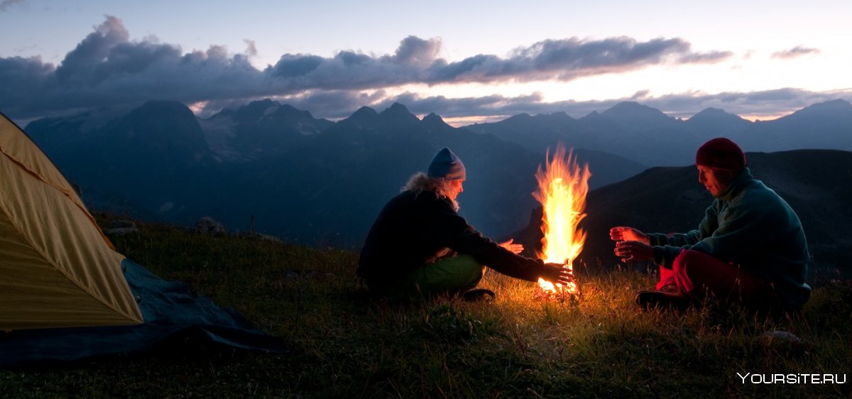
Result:
{"label": "whole tent, yellow canopy together with its dark blue lower flap", "polygon": [[116,252],[71,184],[0,113],[0,367],[203,339],[278,352],[235,312]]}

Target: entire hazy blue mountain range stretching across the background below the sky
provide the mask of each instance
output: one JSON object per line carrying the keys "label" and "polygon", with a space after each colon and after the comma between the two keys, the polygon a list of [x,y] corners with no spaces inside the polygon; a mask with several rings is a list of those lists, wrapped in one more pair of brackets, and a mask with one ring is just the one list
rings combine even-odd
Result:
{"label": "entire hazy blue mountain range stretching across the background below the sky", "polygon": [[181,103],[148,101],[37,119],[25,130],[95,210],[180,224],[210,216],[232,231],[253,226],[300,243],[357,246],[384,202],[440,147],[468,171],[461,213],[499,237],[527,225],[535,171],[557,142],[590,165],[594,190],[648,166],[691,165],[695,148],[714,136],[747,151],[852,150],[850,122],[846,101],[768,122],[712,108],[684,121],[624,102],[581,119],[521,114],[460,128],[401,104],[330,121],[270,100],[210,119]]}

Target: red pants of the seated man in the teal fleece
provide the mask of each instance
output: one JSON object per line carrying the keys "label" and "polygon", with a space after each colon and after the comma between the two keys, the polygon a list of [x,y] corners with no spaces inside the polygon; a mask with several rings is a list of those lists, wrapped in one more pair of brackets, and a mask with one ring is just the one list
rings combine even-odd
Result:
{"label": "red pants of the seated man in the teal fleece", "polygon": [[704,252],[694,250],[682,251],[675,258],[671,269],[659,268],[657,289],[672,285],[696,299],[715,296],[758,307],[774,307],[779,304],[769,281],[757,279],[738,265],[724,263]]}

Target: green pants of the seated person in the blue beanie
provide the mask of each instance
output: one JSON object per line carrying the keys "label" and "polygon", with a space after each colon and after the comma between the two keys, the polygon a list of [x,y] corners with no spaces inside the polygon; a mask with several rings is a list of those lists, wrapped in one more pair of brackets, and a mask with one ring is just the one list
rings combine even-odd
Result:
{"label": "green pants of the seated person in the blue beanie", "polygon": [[454,295],[479,284],[484,272],[485,268],[474,257],[458,255],[424,264],[399,281],[388,284],[367,281],[367,285],[370,291],[389,297]]}

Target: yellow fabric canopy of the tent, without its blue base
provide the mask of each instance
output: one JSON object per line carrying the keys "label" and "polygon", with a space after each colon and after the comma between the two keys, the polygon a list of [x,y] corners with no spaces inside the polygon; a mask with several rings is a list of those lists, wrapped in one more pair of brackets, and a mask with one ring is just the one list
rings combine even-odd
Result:
{"label": "yellow fabric canopy of the tent, without its blue base", "polygon": [[0,330],[139,324],[115,252],[62,173],[0,114]]}

